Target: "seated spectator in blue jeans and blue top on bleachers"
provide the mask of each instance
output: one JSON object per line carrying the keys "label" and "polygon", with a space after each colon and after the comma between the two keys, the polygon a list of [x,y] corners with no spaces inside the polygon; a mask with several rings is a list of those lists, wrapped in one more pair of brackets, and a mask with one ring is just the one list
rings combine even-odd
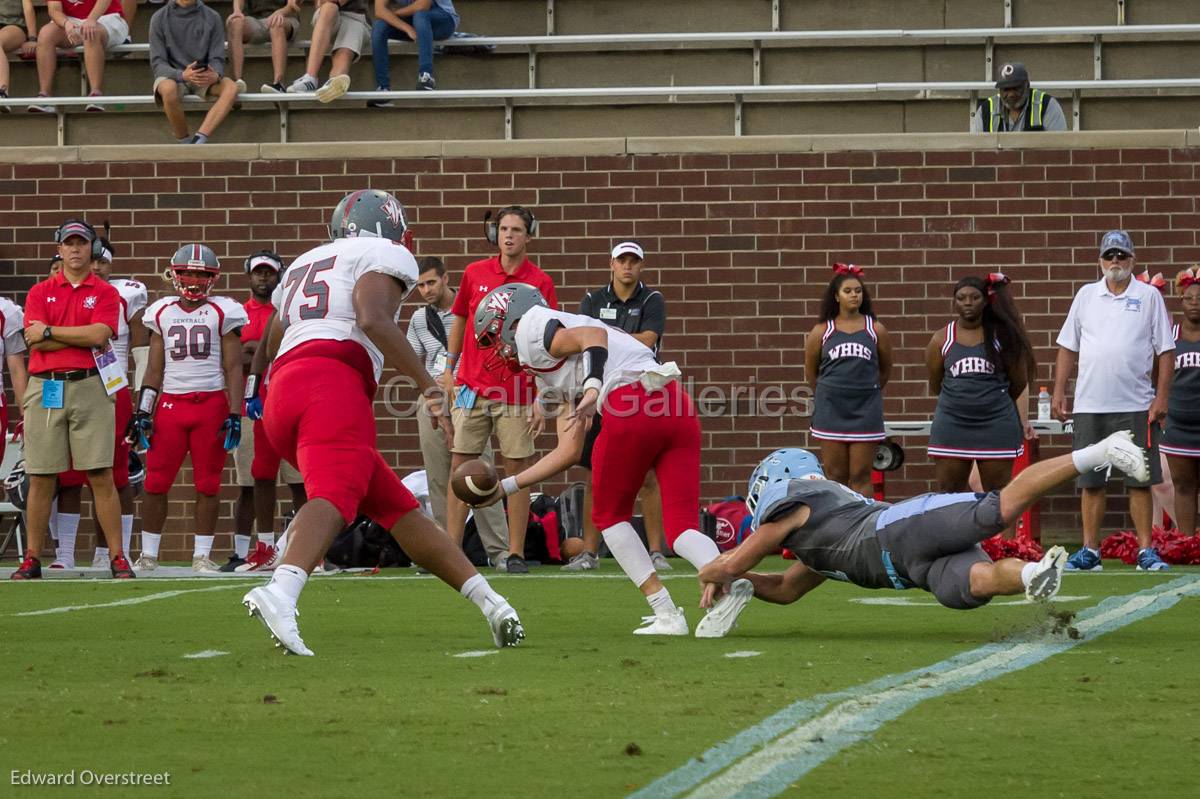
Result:
{"label": "seated spectator in blue jeans and blue top on bleachers", "polygon": [[[378,91],[391,89],[391,61],[388,42],[403,40],[416,42],[416,88],[433,91],[438,88],[433,79],[433,42],[450,38],[458,28],[458,12],[452,0],[374,0],[376,22],[371,28],[371,58],[376,68]],[[374,108],[391,106],[386,101],[368,103]]]}

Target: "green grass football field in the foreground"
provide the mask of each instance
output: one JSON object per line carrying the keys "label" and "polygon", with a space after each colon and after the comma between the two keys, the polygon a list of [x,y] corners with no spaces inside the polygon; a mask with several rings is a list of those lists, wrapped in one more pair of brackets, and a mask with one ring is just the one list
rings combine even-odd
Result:
{"label": "green grass football field in the foreground", "polygon": [[[696,582],[673,563],[667,585],[695,626]],[[528,639],[485,656],[457,656],[491,650],[491,636],[434,578],[335,576],[301,599],[313,659],[280,654],[246,617],[241,594],[256,581],[6,583],[0,794],[1190,795],[1200,594],[1187,591],[1200,571],[1106,569],[1068,576],[1052,606],[1014,597],[972,612],[914,605],[932,601],[922,591],[828,584],[791,607],[751,603],[718,641],[630,635],[648,611],[612,561],[600,575],[490,575]],[[1134,594],[1122,608],[1166,603],[1109,632],[1072,617]],[[112,605],[133,599],[144,601]],[[76,609],[19,615],[66,606]],[[980,672],[895,717],[872,721],[887,703],[868,697],[853,723],[787,737],[834,719],[828,707],[805,715],[799,701],[871,693],[878,684],[862,686],[912,669],[925,680],[980,647],[1008,656],[1067,642],[1078,645]],[[185,657],[205,650],[227,654]],[[786,723],[721,759],[722,741],[790,707]],[[802,775],[725,770],[754,773],[757,761],[743,758],[772,738],[785,771],[808,763]],[[170,786],[12,786],[26,769],[167,771]]]}

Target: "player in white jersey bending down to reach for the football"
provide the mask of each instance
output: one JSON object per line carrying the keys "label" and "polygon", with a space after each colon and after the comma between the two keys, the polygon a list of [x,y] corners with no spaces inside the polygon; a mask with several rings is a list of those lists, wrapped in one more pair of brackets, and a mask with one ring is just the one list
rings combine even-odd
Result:
{"label": "player in white jersey bending down to reach for the football", "polygon": [[[540,389],[535,413],[559,405],[558,446],[517,475],[500,481],[488,505],[575,465],[592,417],[604,403],[604,428],[592,453],[592,519],[605,543],[653,615],[635,635],[688,635],[683,608],[659,579],[650,553],[634,530],[634,500],[646,474],[654,469],[662,488],[662,521],[667,545],[696,569],[720,554],[697,528],[700,509],[700,420],[691,397],[679,384],[674,362],[659,364],[654,353],[624,330],[599,319],[553,311],[532,286],[509,283],[493,289],[475,311],[475,340],[491,349],[488,368],[530,372]],[[565,404],[574,404],[565,413]],[[736,608],[750,601],[754,588],[739,581]],[[730,615],[727,594],[709,613]],[[706,623],[707,620],[707,623]],[[720,637],[733,625],[714,629],[708,617],[696,627],[700,638]]]}

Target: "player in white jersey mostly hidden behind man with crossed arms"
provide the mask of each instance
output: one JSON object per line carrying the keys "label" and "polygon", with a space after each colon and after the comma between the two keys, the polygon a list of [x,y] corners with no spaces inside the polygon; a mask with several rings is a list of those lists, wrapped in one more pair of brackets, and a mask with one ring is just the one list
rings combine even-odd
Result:
{"label": "player in white jersey mostly hidden behind man with crossed arms", "polygon": [[[107,233],[107,223],[106,223]],[[91,262],[91,271],[100,278],[108,281],[108,284],[116,289],[120,295],[120,317],[118,319],[119,330],[113,338],[113,352],[116,353],[116,362],[126,365],[128,368],[130,355],[134,362],[134,388],[138,386],[138,378],[145,371],[148,344],[150,332],[142,324],[142,313],[145,311],[148,294],[145,283],[134,280],[114,278],[113,258],[115,251],[107,236],[100,238],[103,247],[97,258]],[[121,541],[124,551],[130,551],[130,539],[133,537],[133,488],[130,486],[130,445],[125,441],[125,428],[133,416],[133,395],[128,386],[113,395],[116,410],[116,446],[113,447],[113,485],[116,486],[118,497],[121,500]],[[79,530],[79,507],[83,500],[83,486],[88,481],[86,475],[77,469],[64,471],[59,475],[59,495],[55,499],[55,507],[50,511],[54,537],[59,542],[58,557],[50,564],[50,569],[74,567],[74,542]],[[97,524],[94,529],[98,530]],[[96,553],[91,560],[92,569],[108,569],[108,546],[100,536],[96,537]]]}

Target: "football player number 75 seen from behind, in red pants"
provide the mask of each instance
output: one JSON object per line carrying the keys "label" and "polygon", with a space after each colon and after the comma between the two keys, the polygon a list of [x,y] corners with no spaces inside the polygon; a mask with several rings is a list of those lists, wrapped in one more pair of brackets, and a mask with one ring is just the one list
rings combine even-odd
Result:
{"label": "football player number 75 seen from behind, in red pants", "polygon": [[[246,385],[247,416],[262,415],[271,444],[300,469],[308,501],[288,528],[271,582],[242,603],[277,645],[312,655],[296,626],[296,601],[337,533],[362,513],[390,530],[416,564],[474,602],[497,647],[516,645],[524,629],[512,606],[418,510],[376,447],[372,402],[384,362],[425,396],[430,417],[418,422],[450,434],[440,390],[397,324],[418,276],[404,210],[386,192],[352,192],[334,209],[329,233],[329,244],[284,271],[272,298],[277,316]],[[264,408],[259,377],[276,352]]]}

